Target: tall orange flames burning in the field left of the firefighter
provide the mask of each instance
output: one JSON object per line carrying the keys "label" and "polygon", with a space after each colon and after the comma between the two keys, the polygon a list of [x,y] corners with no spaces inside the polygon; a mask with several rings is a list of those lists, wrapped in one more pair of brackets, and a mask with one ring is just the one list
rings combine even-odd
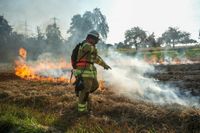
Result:
{"label": "tall orange flames burning in the field left of the firefighter", "polygon": [[64,59],[59,62],[43,61],[39,63],[28,64],[26,62],[27,51],[24,48],[19,49],[19,57],[15,61],[15,74],[25,80],[33,81],[48,81],[48,82],[61,82],[69,83],[69,79],[65,76],[52,77],[52,76],[42,76],[38,73],[45,70],[52,69],[69,69],[70,64],[68,64]]}

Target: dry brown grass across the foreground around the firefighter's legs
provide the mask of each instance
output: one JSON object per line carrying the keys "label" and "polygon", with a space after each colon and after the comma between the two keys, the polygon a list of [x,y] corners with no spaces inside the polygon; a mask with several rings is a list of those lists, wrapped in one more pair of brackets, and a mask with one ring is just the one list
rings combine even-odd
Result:
{"label": "dry brown grass across the foreground around the firefighter's legs", "polygon": [[[179,65],[175,67],[178,68]],[[122,84],[121,81],[118,82]],[[134,87],[135,85],[131,86],[129,91]],[[140,89],[142,91],[143,88]],[[119,95],[117,91],[124,94]],[[78,132],[80,128],[88,132],[187,133],[200,130],[198,108],[175,102],[155,105],[141,99],[133,100],[130,96],[135,95],[129,93],[127,97],[127,91],[127,88],[121,88],[119,84],[96,91],[91,96],[93,116],[87,118],[77,116],[77,99],[72,86],[23,80],[12,71],[3,70],[0,73],[1,113],[12,111],[10,113],[20,121],[27,119],[26,116],[32,121],[36,119],[43,132]],[[31,115],[24,109],[31,109],[28,111]],[[21,113],[16,113],[16,110]],[[20,127],[13,125],[12,128],[6,128],[6,123],[1,125],[1,131],[16,131]]]}

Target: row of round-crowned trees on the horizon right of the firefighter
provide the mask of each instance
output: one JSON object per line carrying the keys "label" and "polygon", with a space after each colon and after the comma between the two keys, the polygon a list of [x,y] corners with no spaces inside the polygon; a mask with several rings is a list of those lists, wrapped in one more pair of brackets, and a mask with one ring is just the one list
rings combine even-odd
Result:
{"label": "row of round-crowned trees on the horizon right of the firefighter", "polygon": [[169,27],[161,37],[155,38],[154,33],[147,35],[147,32],[140,27],[133,27],[125,32],[124,42],[116,43],[117,48],[147,48],[147,47],[161,47],[165,44],[167,47],[175,47],[176,44],[196,43],[197,41],[191,39],[191,34],[186,31],[181,31],[177,27]]}

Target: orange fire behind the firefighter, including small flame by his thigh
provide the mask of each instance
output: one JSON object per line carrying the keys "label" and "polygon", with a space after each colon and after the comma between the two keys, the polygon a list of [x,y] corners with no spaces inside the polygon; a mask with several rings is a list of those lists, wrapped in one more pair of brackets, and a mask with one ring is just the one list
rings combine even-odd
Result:
{"label": "orange fire behind the firefighter, including small flame by his thigh", "polygon": [[[40,62],[28,63],[27,51],[24,48],[19,49],[19,57],[15,60],[15,75],[25,80],[69,84],[71,69],[71,64],[67,63],[65,59],[61,59],[56,62],[52,62],[51,60],[44,60]],[[60,70],[62,72],[60,75],[55,74],[56,72],[52,75],[49,73],[42,73],[55,70]],[[73,77],[71,82],[74,82]],[[99,88],[101,90],[105,88],[103,80],[99,80]]]}

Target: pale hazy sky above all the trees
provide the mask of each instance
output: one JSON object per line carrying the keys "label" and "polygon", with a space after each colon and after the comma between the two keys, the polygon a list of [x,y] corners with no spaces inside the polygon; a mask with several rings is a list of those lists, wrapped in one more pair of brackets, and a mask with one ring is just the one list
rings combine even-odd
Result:
{"label": "pale hazy sky above all the trees", "polygon": [[44,32],[56,17],[63,38],[67,38],[71,18],[96,7],[108,22],[107,43],[123,42],[125,31],[135,26],[156,37],[169,26],[178,27],[198,39],[200,0],[0,0],[0,15],[19,32],[24,32],[26,21],[29,35],[36,34],[37,26]]}

